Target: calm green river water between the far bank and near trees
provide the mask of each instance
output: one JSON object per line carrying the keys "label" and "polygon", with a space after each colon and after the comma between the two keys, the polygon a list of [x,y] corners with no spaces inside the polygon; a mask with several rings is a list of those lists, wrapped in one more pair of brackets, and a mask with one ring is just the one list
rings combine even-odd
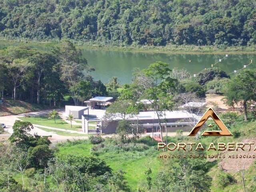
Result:
{"label": "calm green river water between the far bank and near trees", "polygon": [[[18,45],[18,43],[0,42],[0,48],[8,45]],[[44,46],[28,45],[33,48],[48,49]],[[170,68],[186,68],[192,75],[197,74],[204,68],[211,67],[225,56],[223,54],[165,54],[165,53],[148,53],[148,52],[122,52],[107,50],[90,50],[82,48],[84,58],[88,64],[94,66],[95,71],[92,76],[95,80],[101,80],[106,83],[116,76],[122,83],[131,82],[134,68],[146,68],[152,62],[164,61],[170,64]],[[216,64],[227,73],[243,68],[244,65],[253,63],[247,68],[256,68],[256,54],[229,54],[222,62]],[[191,62],[189,62],[191,60]]]}

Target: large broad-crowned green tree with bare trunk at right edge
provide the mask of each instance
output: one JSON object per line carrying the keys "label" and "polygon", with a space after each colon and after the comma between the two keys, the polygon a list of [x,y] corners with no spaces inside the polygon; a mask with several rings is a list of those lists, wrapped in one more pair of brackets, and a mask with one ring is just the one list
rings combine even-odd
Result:
{"label": "large broad-crowned green tree with bare trunk at right edge", "polygon": [[256,70],[242,70],[235,76],[233,76],[226,84],[224,95],[227,104],[233,106],[242,102],[242,108],[244,111],[244,120],[247,121],[248,103],[256,101]]}

